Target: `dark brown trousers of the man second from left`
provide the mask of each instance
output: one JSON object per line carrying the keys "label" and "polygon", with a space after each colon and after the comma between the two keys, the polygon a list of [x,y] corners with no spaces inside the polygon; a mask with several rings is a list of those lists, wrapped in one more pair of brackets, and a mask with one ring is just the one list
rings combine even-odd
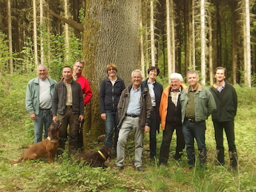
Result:
{"label": "dark brown trousers of the man second from left", "polygon": [[[68,154],[76,154],[77,148],[77,134],[79,131],[79,114],[72,114],[72,108],[65,108],[63,115],[58,115],[61,126],[59,131],[59,144],[60,148],[65,149],[65,142],[67,141],[67,127],[69,125],[69,140],[68,140]],[[62,154],[59,150],[58,155]]]}

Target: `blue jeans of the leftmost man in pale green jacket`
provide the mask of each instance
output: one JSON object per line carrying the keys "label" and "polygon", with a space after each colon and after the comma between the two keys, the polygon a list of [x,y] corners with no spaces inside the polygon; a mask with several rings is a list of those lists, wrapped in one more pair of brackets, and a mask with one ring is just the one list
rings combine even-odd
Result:
{"label": "blue jeans of the leftmost man in pale green jacket", "polygon": [[36,120],[34,121],[35,143],[42,141],[44,128],[44,139],[48,136],[48,130],[52,123],[51,109],[39,109]]}

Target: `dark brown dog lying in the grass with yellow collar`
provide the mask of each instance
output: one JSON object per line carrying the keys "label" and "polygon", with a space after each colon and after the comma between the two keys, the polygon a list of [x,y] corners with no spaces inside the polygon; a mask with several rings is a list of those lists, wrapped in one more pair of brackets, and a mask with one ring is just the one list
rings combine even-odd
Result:
{"label": "dark brown dog lying in the grass with yellow collar", "polygon": [[104,162],[111,157],[111,150],[107,146],[103,146],[98,152],[90,154],[77,154],[74,158],[77,163],[84,162],[84,164],[90,164],[91,167],[106,167]]}

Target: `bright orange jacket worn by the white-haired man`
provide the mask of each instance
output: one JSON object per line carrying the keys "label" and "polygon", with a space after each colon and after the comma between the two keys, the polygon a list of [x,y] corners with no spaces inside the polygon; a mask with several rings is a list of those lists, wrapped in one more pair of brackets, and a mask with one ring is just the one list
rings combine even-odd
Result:
{"label": "bright orange jacket worn by the white-haired man", "polygon": [[[183,84],[183,83],[181,83],[180,86],[181,86],[181,90],[184,90],[184,88],[187,87],[186,84]],[[160,106],[159,106],[159,115],[160,115],[162,130],[164,130],[164,127],[165,127],[167,108],[168,108],[168,95],[171,88],[172,88],[172,85],[169,85],[164,89],[161,97]]]}

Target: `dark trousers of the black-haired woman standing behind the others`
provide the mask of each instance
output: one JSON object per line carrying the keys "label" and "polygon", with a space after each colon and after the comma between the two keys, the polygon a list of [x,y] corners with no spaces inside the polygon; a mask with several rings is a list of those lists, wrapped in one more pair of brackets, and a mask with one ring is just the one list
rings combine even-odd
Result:
{"label": "dark trousers of the black-haired woman standing behind the others", "polygon": [[152,122],[150,124],[150,132],[149,132],[149,149],[150,149],[150,157],[154,158],[156,156],[156,108],[153,107],[152,111]]}

